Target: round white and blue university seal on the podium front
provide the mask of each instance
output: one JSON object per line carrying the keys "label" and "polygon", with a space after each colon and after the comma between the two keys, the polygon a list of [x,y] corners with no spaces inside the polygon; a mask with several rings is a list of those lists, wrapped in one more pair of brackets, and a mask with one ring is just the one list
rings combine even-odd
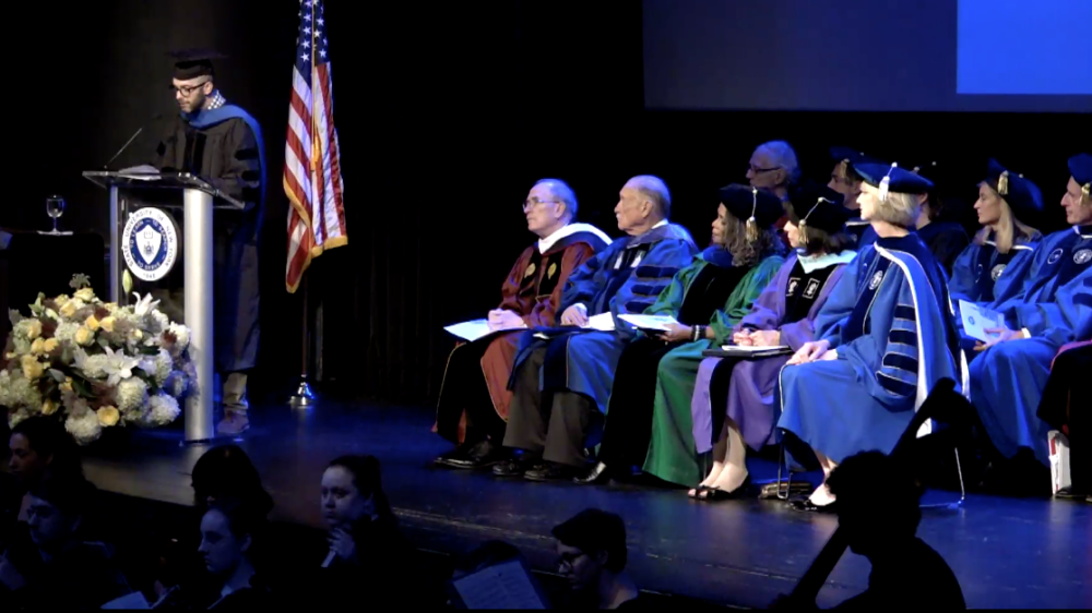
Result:
{"label": "round white and blue university seal on the podium front", "polygon": [[134,211],[121,235],[126,266],[144,281],[166,277],[178,260],[178,229],[175,220],[158,208]]}

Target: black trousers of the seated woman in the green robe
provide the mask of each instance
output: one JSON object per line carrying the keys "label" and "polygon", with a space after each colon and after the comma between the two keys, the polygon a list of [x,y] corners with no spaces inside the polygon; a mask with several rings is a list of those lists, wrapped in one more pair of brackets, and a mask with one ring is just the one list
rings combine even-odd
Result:
{"label": "black trousers of the seated woman in the green robe", "polygon": [[656,371],[660,360],[679,345],[642,337],[630,342],[618,358],[600,446],[603,464],[618,469],[644,465],[652,442]]}

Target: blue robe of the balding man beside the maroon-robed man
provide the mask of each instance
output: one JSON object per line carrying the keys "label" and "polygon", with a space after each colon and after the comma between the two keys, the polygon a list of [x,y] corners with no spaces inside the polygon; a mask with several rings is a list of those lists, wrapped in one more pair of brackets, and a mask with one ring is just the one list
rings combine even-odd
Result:
{"label": "blue robe of the balding man beside the maroon-robed man", "polygon": [[515,381],[515,371],[531,352],[547,347],[539,389],[581,394],[605,413],[618,359],[626,345],[637,336],[618,315],[643,313],[697,252],[690,232],[675,224],[614,241],[569,277],[558,312],[563,313],[573,304],[584,304],[590,317],[610,313],[615,329],[558,327],[525,332],[520,339],[510,385]]}

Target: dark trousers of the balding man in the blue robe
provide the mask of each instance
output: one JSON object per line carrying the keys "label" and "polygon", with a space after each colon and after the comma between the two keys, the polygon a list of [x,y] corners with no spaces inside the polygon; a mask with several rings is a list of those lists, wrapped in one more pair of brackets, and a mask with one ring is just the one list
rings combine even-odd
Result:
{"label": "dark trousers of the balding man in the blue robe", "polygon": [[517,366],[505,446],[542,454],[547,461],[583,466],[586,461],[584,449],[594,446],[589,434],[602,423],[602,416],[585,396],[541,390],[546,349],[535,349]]}

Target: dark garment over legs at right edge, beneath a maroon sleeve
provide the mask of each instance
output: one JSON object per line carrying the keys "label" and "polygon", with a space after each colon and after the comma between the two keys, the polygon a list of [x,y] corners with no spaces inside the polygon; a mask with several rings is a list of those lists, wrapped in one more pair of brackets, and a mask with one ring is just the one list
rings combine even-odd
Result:
{"label": "dark garment over legs at right edge, beneath a maroon sleeve", "polygon": [[[1073,493],[1092,493],[1092,410],[1082,376],[1092,372],[1092,345],[1060,353],[1043,389],[1038,417],[1069,438]],[[1081,398],[1085,398],[1081,400]]]}

